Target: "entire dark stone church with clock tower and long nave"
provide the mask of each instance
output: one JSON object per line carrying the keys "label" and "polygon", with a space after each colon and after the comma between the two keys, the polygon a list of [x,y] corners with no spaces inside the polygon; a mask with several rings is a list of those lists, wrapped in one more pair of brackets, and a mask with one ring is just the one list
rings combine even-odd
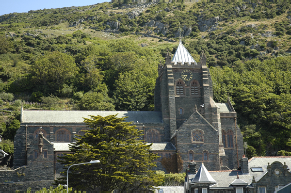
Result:
{"label": "entire dark stone church with clock tower and long nave", "polygon": [[[75,135],[83,135],[88,115],[128,116],[144,139],[152,143],[152,152],[162,169],[162,158],[178,153],[183,160],[183,172],[190,161],[208,170],[239,168],[243,155],[242,133],[237,125],[237,113],[231,102],[213,100],[212,80],[202,53],[196,63],[179,42],[175,55],[168,52],[165,64],[159,65],[155,87],[154,112],[129,111],[32,111],[21,109],[21,126],[14,145],[14,168],[18,181],[53,180],[62,166],[57,156],[69,153],[68,144]],[[22,167],[26,166],[26,167]]]}

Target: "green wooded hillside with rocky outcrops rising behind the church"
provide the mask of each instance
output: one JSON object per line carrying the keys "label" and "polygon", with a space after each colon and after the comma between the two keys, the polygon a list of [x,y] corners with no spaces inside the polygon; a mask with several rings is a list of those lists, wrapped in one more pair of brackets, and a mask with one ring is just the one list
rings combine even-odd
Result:
{"label": "green wooded hillside with rocky outcrops rising behind the church", "polygon": [[204,50],[214,100],[233,101],[247,156],[291,155],[286,2],[104,2],[0,16],[0,134],[13,140],[21,104],[153,111],[158,65],[180,35],[197,62]]}

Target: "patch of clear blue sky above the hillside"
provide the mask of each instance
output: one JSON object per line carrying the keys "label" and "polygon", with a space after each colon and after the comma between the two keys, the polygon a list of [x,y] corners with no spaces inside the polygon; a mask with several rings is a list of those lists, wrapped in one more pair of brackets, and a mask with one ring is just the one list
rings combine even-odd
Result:
{"label": "patch of clear blue sky above the hillside", "polygon": [[10,13],[23,13],[30,10],[94,5],[111,0],[1,0],[0,16]]}

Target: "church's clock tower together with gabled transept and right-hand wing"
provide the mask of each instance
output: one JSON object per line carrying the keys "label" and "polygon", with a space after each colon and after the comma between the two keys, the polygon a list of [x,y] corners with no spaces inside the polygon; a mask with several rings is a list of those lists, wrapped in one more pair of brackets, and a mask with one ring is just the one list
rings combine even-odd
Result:
{"label": "church's clock tower together with gabled transept and right-hand wing", "polygon": [[203,51],[197,63],[180,40],[173,58],[166,54],[156,80],[155,111],[162,112],[164,141],[175,144],[185,167],[192,160],[210,170],[236,167],[243,154],[236,112],[229,99],[213,100]]}

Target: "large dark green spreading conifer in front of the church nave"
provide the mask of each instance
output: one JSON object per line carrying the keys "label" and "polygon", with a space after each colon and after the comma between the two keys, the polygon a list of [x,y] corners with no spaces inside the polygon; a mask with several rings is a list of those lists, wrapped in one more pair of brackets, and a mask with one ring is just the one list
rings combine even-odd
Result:
{"label": "large dark green spreading conifer in front of the church nave", "polygon": [[[126,117],[125,117],[126,118]],[[125,118],[116,115],[85,118],[88,130],[71,145],[71,153],[59,162],[66,167],[71,163],[100,160],[97,164],[84,164],[70,169],[69,186],[92,191],[146,191],[154,188],[162,178],[154,178],[151,168],[158,156],[149,153],[150,146],[139,140],[141,131],[130,126]],[[102,169],[101,169],[102,168]],[[66,175],[65,172],[63,172]],[[82,178],[82,183],[79,183]],[[66,178],[58,180],[65,183]]]}

